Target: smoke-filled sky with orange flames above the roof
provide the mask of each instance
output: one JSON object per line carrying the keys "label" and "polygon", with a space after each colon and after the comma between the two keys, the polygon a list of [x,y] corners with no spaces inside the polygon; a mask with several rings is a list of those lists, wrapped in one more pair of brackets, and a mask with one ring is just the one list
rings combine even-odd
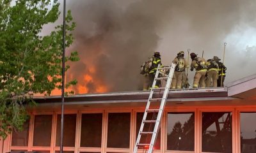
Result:
{"label": "smoke-filled sky with orange flames above the roof", "polygon": [[[77,78],[76,94],[138,91],[140,66],[150,55],[160,52],[168,66],[181,50],[187,58],[188,49],[200,57],[204,50],[205,59],[220,57],[226,85],[248,77],[256,73],[255,5],[255,0],[67,0],[77,24],[67,54],[77,50],[81,58],[70,65],[67,80]],[[194,75],[189,71],[191,85]]]}

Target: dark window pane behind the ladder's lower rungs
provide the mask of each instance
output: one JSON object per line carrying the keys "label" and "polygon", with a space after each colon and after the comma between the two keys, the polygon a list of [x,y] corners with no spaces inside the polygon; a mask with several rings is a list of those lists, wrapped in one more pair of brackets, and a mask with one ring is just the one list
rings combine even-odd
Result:
{"label": "dark window pane behind the ladder's lower rungs", "polygon": [[[137,113],[137,116],[136,116],[136,140],[137,140],[138,133],[139,133],[139,130],[140,130],[143,115],[144,115],[144,113]],[[156,113],[148,113],[146,120],[156,120],[156,117],[157,117]],[[155,126],[154,123],[144,124],[143,132],[154,131],[154,126]],[[150,141],[151,141],[151,137],[152,137],[152,135],[141,135],[140,143],[149,144]],[[159,131],[158,131],[158,135],[157,135],[157,138],[156,138],[156,143],[154,145],[154,149],[159,150],[160,145],[161,145],[161,129],[159,129]],[[140,148],[140,149],[143,149],[143,148]]]}

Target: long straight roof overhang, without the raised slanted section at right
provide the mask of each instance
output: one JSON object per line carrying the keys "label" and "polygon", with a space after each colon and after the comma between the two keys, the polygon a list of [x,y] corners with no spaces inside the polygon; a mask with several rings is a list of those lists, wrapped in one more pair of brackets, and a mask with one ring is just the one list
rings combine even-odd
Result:
{"label": "long straight roof overhang, without the raised slanted section at right", "polygon": [[[79,94],[68,96],[65,98],[65,105],[76,104],[93,104],[93,103],[132,103],[132,102],[145,102],[148,100],[150,91],[129,91],[129,92],[111,92],[103,94]],[[153,95],[154,98],[163,96],[163,91],[159,91]],[[227,89],[219,88],[206,88],[206,89],[180,89],[170,90],[168,93],[167,101],[209,101],[209,100],[227,100],[234,99],[228,98]],[[35,97],[34,100],[38,105],[61,103],[61,96],[49,97]]]}

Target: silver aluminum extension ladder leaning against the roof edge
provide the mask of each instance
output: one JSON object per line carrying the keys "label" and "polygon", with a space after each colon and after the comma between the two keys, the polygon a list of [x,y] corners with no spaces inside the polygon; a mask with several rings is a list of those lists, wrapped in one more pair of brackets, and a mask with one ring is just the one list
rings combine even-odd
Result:
{"label": "silver aluminum extension ladder leaning against the roof edge", "polygon": [[[147,106],[146,106],[146,109],[145,109],[145,112],[144,112],[144,115],[143,115],[143,119],[142,119],[141,126],[140,126],[140,131],[138,133],[138,138],[136,140],[136,145],[134,147],[133,153],[138,152],[138,147],[145,147],[145,146],[147,146],[147,148],[148,148],[148,153],[153,152],[153,147],[154,147],[154,144],[156,142],[157,133],[158,133],[158,130],[159,130],[159,124],[160,124],[161,118],[163,116],[164,106],[165,106],[165,103],[166,103],[166,99],[168,97],[168,92],[169,92],[169,89],[170,89],[170,84],[172,82],[172,77],[173,77],[175,66],[176,66],[176,64],[174,64],[174,63],[172,63],[172,65],[170,67],[160,68],[160,64],[157,66],[156,75],[155,75],[155,78],[154,78],[154,82],[152,84],[152,88],[150,90],[150,95],[148,97]],[[159,73],[161,73],[161,70],[163,70],[163,69],[166,69],[166,70],[169,69],[169,74],[165,75],[164,77],[159,77]],[[166,80],[165,87],[154,88],[155,85],[156,85],[157,80]],[[152,98],[154,92],[161,91],[162,89],[164,89],[164,93],[163,93],[162,98]],[[151,101],[152,102],[153,101],[161,101],[161,104],[160,104],[159,108],[158,109],[150,109]],[[158,112],[157,113],[157,119],[156,120],[146,120],[148,112]],[[152,124],[152,123],[155,123],[154,131],[147,131],[147,132],[143,131],[143,128],[144,128],[145,124]],[[151,136],[150,144],[140,143],[141,135],[150,135]]]}

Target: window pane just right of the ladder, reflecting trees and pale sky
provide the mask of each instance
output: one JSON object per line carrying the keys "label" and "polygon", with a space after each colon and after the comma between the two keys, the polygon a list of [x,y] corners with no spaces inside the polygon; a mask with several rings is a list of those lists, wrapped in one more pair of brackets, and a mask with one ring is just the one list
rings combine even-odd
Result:
{"label": "window pane just right of the ladder, reflecting trees and pale sky", "polygon": [[168,113],[167,150],[193,151],[195,113]]}

